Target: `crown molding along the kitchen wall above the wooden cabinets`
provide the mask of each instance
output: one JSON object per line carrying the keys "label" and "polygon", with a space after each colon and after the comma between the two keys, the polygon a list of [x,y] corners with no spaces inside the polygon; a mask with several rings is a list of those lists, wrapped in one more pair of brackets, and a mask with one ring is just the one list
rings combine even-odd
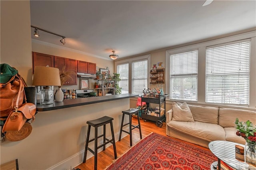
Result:
{"label": "crown molding along the kitchen wall above the wooden cabinets", "polygon": [[100,58],[100,59],[111,61],[111,59],[106,59],[106,58],[100,57],[98,55],[94,55],[94,54],[91,54],[91,53],[86,53],[86,52],[83,52],[83,51],[79,51],[79,50],[68,48],[68,47],[63,47],[63,46],[52,44],[52,43],[48,43],[48,42],[42,42],[42,41],[39,41],[39,40],[35,40],[33,38],[31,38],[31,41],[33,43],[38,43],[38,44],[46,45],[46,46],[49,46],[49,47],[63,49],[63,50],[67,50],[67,51],[71,51],[71,52],[75,52],[75,53],[80,53],[80,54],[83,54],[83,55],[88,55],[90,57],[96,57],[96,58]]}

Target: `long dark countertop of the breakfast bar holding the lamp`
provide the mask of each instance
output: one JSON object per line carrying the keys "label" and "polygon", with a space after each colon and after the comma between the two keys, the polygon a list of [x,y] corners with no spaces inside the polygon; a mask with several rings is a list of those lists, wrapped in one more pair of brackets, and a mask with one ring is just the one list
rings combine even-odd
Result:
{"label": "long dark countertop of the breakfast bar holding the lamp", "polygon": [[126,99],[130,97],[138,97],[139,95],[134,94],[120,94],[120,95],[109,95],[109,96],[97,96],[97,97],[87,97],[87,98],[77,98],[77,99],[64,99],[62,102],[54,101],[51,105],[36,105],[37,111],[52,111],[56,109],[64,109],[68,107],[75,107],[81,105],[90,105],[93,103],[101,103],[105,101],[113,101],[119,99]]}

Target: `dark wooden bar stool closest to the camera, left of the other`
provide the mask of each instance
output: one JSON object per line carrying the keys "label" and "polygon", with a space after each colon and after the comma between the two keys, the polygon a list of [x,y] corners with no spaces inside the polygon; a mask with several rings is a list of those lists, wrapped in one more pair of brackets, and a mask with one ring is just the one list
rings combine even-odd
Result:
{"label": "dark wooden bar stool closest to the camera, left of the other", "polygon": [[[102,146],[103,146],[103,150],[105,150],[106,149],[106,144],[112,143],[113,144],[113,148],[114,148],[115,159],[117,158],[116,143],[115,143],[114,129],[113,129],[112,120],[114,120],[112,117],[104,116],[104,117],[101,117],[99,119],[95,119],[95,120],[92,120],[92,121],[87,121],[87,124],[89,126],[88,126],[88,130],[87,130],[86,145],[85,145],[85,149],[84,149],[84,161],[83,162],[84,163],[86,162],[87,150],[89,150],[90,152],[92,152],[92,154],[94,154],[94,170],[97,170],[98,149],[101,148]],[[106,124],[108,124],[108,123],[110,123],[112,139],[106,138]],[[100,127],[102,125],[103,125],[103,134],[98,136],[98,127]],[[94,138],[89,140],[91,126],[94,127],[94,129],[95,129],[94,131],[95,132],[94,132]],[[98,138],[100,138],[102,136],[103,136],[103,144],[98,146]],[[88,143],[92,142],[92,141],[94,141],[94,150],[92,150],[91,148],[88,147]]]}

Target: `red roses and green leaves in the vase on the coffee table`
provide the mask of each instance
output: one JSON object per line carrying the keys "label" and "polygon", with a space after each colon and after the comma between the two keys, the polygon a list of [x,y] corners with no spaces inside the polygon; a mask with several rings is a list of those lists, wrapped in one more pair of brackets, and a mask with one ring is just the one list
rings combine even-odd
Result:
{"label": "red roses and green leaves in the vase on the coffee table", "polygon": [[239,122],[239,119],[236,118],[235,128],[237,129],[236,135],[242,136],[247,143],[256,144],[256,126],[253,125],[250,121]]}

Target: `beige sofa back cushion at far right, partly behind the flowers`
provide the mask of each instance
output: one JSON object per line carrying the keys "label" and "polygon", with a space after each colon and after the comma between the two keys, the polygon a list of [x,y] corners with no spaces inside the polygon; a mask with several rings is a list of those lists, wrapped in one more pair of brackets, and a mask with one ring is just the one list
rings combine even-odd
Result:
{"label": "beige sofa back cushion at far right, partly behind the flowers", "polygon": [[235,127],[236,118],[239,121],[251,121],[256,125],[256,111],[248,111],[242,109],[219,109],[219,125],[222,127]]}

